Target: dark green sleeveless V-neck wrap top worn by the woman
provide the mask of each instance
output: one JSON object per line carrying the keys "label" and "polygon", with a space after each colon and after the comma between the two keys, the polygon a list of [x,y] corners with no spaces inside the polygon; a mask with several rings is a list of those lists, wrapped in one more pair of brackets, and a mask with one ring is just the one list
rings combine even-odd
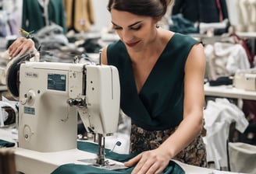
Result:
{"label": "dark green sleeveless V-neck wrap top worn by the woman", "polygon": [[122,41],[109,44],[108,64],[116,66],[120,79],[120,107],[132,124],[148,131],[176,127],[183,119],[184,68],[190,36],[175,33],[158,58],[144,86],[137,93],[129,54]]}

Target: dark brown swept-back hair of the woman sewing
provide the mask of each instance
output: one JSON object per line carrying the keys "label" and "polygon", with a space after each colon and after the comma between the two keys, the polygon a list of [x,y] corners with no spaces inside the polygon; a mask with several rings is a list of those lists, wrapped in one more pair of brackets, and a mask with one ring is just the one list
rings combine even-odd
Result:
{"label": "dark brown swept-back hair of the woman sewing", "polygon": [[108,11],[116,9],[130,12],[138,16],[151,16],[154,18],[165,15],[167,7],[174,0],[109,0]]}

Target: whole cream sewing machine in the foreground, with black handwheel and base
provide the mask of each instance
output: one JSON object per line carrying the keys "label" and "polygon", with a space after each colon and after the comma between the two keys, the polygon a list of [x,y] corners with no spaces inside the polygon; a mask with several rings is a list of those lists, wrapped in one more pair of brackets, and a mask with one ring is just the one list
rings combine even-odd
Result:
{"label": "whole cream sewing machine in the foreground, with black handwheel and base", "polygon": [[[42,173],[80,160],[89,165],[107,165],[105,136],[117,131],[119,119],[117,69],[92,63],[28,61],[32,57],[35,54],[16,57],[6,68],[9,92],[20,101],[18,171],[34,173],[32,168],[51,161],[48,171]],[[97,156],[76,149],[78,114],[87,132],[97,136]]]}

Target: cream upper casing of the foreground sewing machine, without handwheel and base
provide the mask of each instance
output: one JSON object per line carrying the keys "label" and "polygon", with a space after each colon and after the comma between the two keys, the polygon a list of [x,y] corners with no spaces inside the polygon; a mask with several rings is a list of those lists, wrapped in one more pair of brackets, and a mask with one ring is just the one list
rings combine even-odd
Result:
{"label": "cream upper casing of the foreground sewing machine, without handwheel and base", "polygon": [[[70,106],[70,99],[74,106]],[[85,127],[94,133],[105,136],[116,132],[116,68],[53,62],[20,65],[20,148],[41,152],[76,148],[77,111]]]}

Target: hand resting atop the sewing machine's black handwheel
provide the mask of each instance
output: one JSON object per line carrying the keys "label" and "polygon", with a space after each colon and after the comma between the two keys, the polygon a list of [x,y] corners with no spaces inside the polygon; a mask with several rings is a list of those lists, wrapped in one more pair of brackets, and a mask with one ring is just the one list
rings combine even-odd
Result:
{"label": "hand resting atop the sewing machine's black handwheel", "polygon": [[27,51],[35,50],[34,41],[31,39],[26,39],[24,37],[18,37],[10,46],[9,46],[9,56],[16,57],[16,55],[22,56],[27,53]]}

